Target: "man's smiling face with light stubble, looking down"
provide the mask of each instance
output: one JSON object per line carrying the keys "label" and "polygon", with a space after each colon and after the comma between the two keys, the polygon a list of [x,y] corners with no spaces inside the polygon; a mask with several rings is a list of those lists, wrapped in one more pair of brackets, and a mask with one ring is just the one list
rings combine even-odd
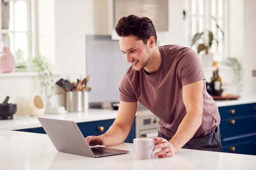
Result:
{"label": "man's smiling face with light stubble, looking down", "polygon": [[126,61],[130,62],[135,70],[139,71],[146,67],[151,58],[147,44],[144,44],[142,40],[137,40],[136,36],[130,35],[120,37],[119,45]]}

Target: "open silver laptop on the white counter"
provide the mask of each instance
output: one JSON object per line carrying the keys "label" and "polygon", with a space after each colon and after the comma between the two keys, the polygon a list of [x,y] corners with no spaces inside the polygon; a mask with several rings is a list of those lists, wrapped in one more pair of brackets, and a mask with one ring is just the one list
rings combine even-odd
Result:
{"label": "open silver laptop on the white counter", "polygon": [[86,157],[104,157],[128,153],[128,150],[89,146],[74,121],[38,117],[52,144],[59,152],[82,155]]}

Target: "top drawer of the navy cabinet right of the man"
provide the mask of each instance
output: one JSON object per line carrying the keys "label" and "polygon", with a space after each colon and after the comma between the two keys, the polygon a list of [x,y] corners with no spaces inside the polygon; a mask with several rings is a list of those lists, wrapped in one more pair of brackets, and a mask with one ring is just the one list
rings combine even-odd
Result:
{"label": "top drawer of the navy cabinet right of the man", "polygon": [[219,107],[220,118],[256,115],[256,103]]}

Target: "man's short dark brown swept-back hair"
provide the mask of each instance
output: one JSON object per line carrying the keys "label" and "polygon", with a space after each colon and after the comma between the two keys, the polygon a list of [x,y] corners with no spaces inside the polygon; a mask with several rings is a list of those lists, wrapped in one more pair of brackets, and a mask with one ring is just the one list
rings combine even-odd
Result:
{"label": "man's short dark brown swept-back hair", "polygon": [[147,17],[139,18],[136,15],[122,17],[117,23],[116,32],[119,37],[135,35],[138,40],[142,40],[144,44],[147,44],[148,38],[154,36],[155,43],[157,42],[155,26]]}

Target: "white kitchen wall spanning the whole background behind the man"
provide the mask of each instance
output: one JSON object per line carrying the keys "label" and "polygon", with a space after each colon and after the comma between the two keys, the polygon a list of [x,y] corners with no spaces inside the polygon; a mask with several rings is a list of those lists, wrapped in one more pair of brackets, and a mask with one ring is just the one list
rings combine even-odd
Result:
{"label": "white kitchen wall spanning the whole background behind the man", "polygon": [[[229,54],[238,57],[245,68],[243,94],[256,93],[256,77],[252,77],[252,69],[256,69],[256,21],[253,19],[256,1],[229,2],[234,8],[229,15]],[[63,73],[55,76],[54,82],[60,78],[76,81],[81,75],[86,76],[85,35],[110,35],[111,3],[112,0],[38,0],[39,52],[47,57],[54,71]],[[159,45],[184,45],[182,10],[182,0],[169,0],[169,31],[165,34],[165,40],[159,40]],[[224,82],[230,81],[229,77],[229,73],[223,72]],[[26,99],[31,93],[39,93],[34,79],[0,77],[0,101],[9,95],[10,102],[18,104],[16,114],[24,114]],[[58,93],[63,94],[63,91]],[[55,95],[53,103],[58,103],[55,100],[60,98],[63,99],[63,95]]]}

